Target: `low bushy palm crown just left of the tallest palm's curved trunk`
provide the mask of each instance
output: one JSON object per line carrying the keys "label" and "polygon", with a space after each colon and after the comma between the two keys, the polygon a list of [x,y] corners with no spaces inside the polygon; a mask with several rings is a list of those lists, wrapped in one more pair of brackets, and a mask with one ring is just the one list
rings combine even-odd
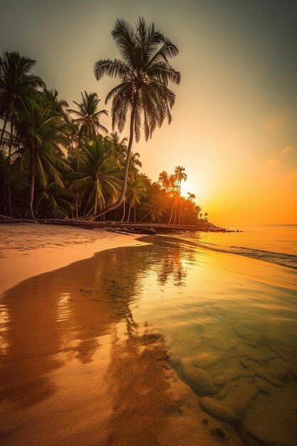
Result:
{"label": "low bushy palm crown just left of the tallest palm's curved trunk", "polygon": [[80,197],[86,197],[88,207],[95,215],[98,206],[104,207],[108,199],[118,195],[121,180],[118,178],[118,164],[113,155],[113,145],[108,138],[101,135],[93,141],[83,141],[78,152],[80,172],[68,175],[71,181],[69,188],[77,191]]}

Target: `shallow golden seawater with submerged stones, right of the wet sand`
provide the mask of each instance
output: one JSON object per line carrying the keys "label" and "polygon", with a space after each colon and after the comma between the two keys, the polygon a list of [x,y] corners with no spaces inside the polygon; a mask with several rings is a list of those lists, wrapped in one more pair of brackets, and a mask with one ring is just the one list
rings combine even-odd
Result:
{"label": "shallow golden seawater with submerged stones, right of the wet sand", "polygon": [[132,313],[164,333],[206,414],[231,422],[246,445],[293,446],[297,226],[244,229],[159,237]]}

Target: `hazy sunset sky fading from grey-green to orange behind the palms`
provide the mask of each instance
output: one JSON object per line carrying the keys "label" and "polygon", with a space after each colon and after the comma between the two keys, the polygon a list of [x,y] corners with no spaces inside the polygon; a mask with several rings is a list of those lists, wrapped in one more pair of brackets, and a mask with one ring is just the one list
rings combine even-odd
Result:
{"label": "hazy sunset sky fading from grey-green to orange behind the palms", "polygon": [[[297,2],[287,0],[0,0],[0,50],[37,61],[61,98],[98,93],[95,61],[119,56],[115,20],[143,16],[179,48],[172,66],[172,123],[142,137],[142,172],[153,181],[185,168],[182,192],[215,224],[297,224]],[[111,119],[103,118],[110,131]],[[125,131],[124,131],[125,132]],[[123,133],[123,136],[127,135]]]}

